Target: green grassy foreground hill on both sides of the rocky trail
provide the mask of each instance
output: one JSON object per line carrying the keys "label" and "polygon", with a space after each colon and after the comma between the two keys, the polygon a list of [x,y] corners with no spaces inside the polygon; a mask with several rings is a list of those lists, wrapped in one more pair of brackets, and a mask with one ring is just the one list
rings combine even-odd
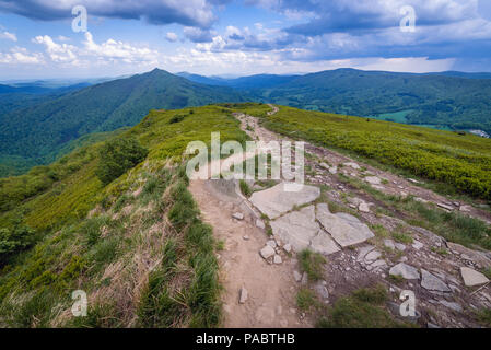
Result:
{"label": "green grassy foreground hill on both sides of the rocky trail", "polygon": [[[489,198],[490,140],[291,107],[269,110],[250,103],[151,110],[130,129],[0,179],[0,327],[220,325],[220,245],[187,190],[183,153],[190,141],[210,144],[212,131],[222,142],[244,144],[233,113],[446,186],[471,185],[469,194]],[[479,234],[464,238],[491,244]],[[87,317],[71,314],[74,290],[87,294]]]}

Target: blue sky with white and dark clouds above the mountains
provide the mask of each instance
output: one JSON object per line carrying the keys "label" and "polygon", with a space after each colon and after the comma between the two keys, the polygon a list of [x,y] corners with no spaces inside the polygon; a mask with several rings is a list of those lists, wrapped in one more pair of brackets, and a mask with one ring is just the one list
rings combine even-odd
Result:
{"label": "blue sky with white and dark clouds above the mountains", "polygon": [[154,68],[491,71],[491,0],[0,0],[2,81]]}

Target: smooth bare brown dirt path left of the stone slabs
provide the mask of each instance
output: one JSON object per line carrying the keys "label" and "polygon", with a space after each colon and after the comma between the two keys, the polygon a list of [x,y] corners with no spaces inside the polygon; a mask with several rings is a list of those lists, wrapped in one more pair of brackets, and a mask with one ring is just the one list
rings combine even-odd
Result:
{"label": "smooth bare brown dirt path left of the stone slabs", "polygon": [[[202,219],[213,226],[215,238],[223,241],[219,253],[221,282],[224,287],[223,327],[305,327],[295,305],[297,283],[293,279],[294,259],[269,265],[259,250],[267,235],[257,229],[255,218],[246,213],[235,220],[235,212],[244,212],[237,201],[225,198],[211,182],[194,180],[189,186],[201,210]],[[244,238],[245,237],[245,238]],[[248,299],[238,303],[239,291],[245,288]]]}

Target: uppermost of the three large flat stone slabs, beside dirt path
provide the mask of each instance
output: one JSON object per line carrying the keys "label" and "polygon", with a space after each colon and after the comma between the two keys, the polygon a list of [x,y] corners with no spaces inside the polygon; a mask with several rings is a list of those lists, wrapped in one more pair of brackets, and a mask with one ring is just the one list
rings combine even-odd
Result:
{"label": "uppermost of the three large flat stone slabs, beside dirt path", "polygon": [[297,191],[285,191],[284,183],[254,192],[250,202],[269,219],[273,220],[291,211],[295,206],[304,206],[320,196],[320,189],[304,185]]}

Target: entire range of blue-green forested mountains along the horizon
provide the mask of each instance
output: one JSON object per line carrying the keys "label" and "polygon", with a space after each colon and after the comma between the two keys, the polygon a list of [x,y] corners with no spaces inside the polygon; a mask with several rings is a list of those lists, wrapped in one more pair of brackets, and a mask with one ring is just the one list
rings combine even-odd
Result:
{"label": "entire range of blue-green forested mountains along the horizon", "polygon": [[0,176],[50,163],[79,138],[135,126],[151,109],[245,101],[491,133],[491,73],[338,69],[225,79],[155,69],[94,84],[0,85]]}

